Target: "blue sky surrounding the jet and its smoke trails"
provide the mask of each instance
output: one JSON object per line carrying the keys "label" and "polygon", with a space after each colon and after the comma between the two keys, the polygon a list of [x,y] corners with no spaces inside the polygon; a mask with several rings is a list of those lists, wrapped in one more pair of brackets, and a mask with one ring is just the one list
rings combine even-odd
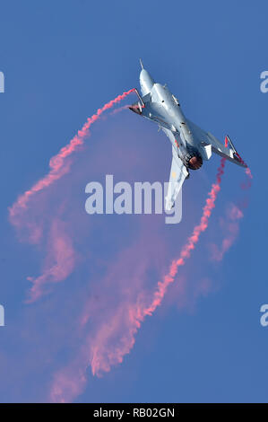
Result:
{"label": "blue sky surrounding the jet and its smoke trails", "polygon": [[[72,321],[84,304],[83,295],[94,297],[91,292],[100,289],[100,278],[112,274],[114,254],[120,257],[139,242],[144,242],[144,256],[157,259],[161,254],[163,268],[148,263],[146,283],[152,287],[201,216],[218,157],[200,171],[201,177],[196,172],[187,181],[183,221],[176,227],[162,227],[160,219],[148,216],[97,216],[89,223],[82,215],[80,225],[67,229],[82,267],[39,303],[25,303],[27,277],[39,275],[45,250],[18,241],[7,208],[48,172],[50,157],[95,110],[138,87],[139,57],[157,81],[169,85],[189,119],[220,139],[229,133],[254,183],[250,192],[241,191],[243,171],[227,164],[211,225],[177,277],[177,284],[185,277],[192,286],[186,303],[180,303],[172,286],[162,307],[144,321],[123,363],[101,377],[89,371],[86,386],[73,400],[267,401],[268,328],[260,325],[259,312],[268,303],[268,94],[260,91],[260,74],[268,70],[267,3],[71,0],[10,1],[0,7],[0,70],[5,75],[0,94],[0,303],[6,320],[0,328],[0,401],[48,400],[54,374],[77,354]],[[56,215],[59,197],[67,201],[65,222],[71,221],[72,209],[82,213],[86,183],[104,174],[112,172],[117,180],[168,180],[166,136],[130,112],[96,123],[89,142],[75,156],[69,176],[42,199],[46,224]],[[208,245],[222,240],[220,217],[240,198],[248,206],[238,238],[220,263],[212,262]],[[89,238],[80,236],[83,221],[89,224]],[[130,273],[136,265],[131,262]],[[205,297],[195,294],[204,278],[210,280]],[[125,284],[129,282],[125,277]],[[108,288],[113,281],[109,283]],[[122,286],[117,285],[115,295],[121,295]],[[100,289],[99,295],[107,294]],[[69,330],[63,328],[65,319]]]}

